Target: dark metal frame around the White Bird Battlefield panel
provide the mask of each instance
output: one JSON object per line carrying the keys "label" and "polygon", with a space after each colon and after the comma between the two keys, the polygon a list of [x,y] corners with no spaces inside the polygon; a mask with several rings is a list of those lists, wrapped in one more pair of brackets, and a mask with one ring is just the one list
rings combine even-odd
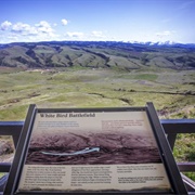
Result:
{"label": "dark metal frame around the White Bird Battlefield panel", "polygon": [[[152,127],[157,146],[158,152],[161,158],[161,161],[165,166],[167,177],[169,179],[171,185],[171,192],[165,194],[187,194],[185,185],[182,181],[180,171],[177,167],[174,161],[171,148],[169,143],[166,139],[165,131],[162,126],[158,119],[157,113],[152,102],[146,103],[145,106],[142,107],[106,107],[106,108],[37,108],[35,104],[30,104],[28,108],[28,113],[25,119],[25,123],[21,133],[21,138],[15,151],[14,160],[10,170],[9,179],[5,185],[4,195],[21,195],[21,194],[110,194],[110,192],[50,192],[50,191],[30,191],[30,192],[18,192],[18,183],[21,180],[22,171],[25,165],[26,155],[28,152],[30,135],[32,132],[32,127],[35,122],[36,115],[38,113],[89,113],[89,112],[146,112],[147,118],[150,120],[150,125]],[[123,191],[123,192],[112,192],[112,194],[152,194],[153,192],[142,191],[142,192],[134,192],[134,191]],[[157,192],[155,192],[157,194]],[[159,192],[159,194],[164,194]]]}

